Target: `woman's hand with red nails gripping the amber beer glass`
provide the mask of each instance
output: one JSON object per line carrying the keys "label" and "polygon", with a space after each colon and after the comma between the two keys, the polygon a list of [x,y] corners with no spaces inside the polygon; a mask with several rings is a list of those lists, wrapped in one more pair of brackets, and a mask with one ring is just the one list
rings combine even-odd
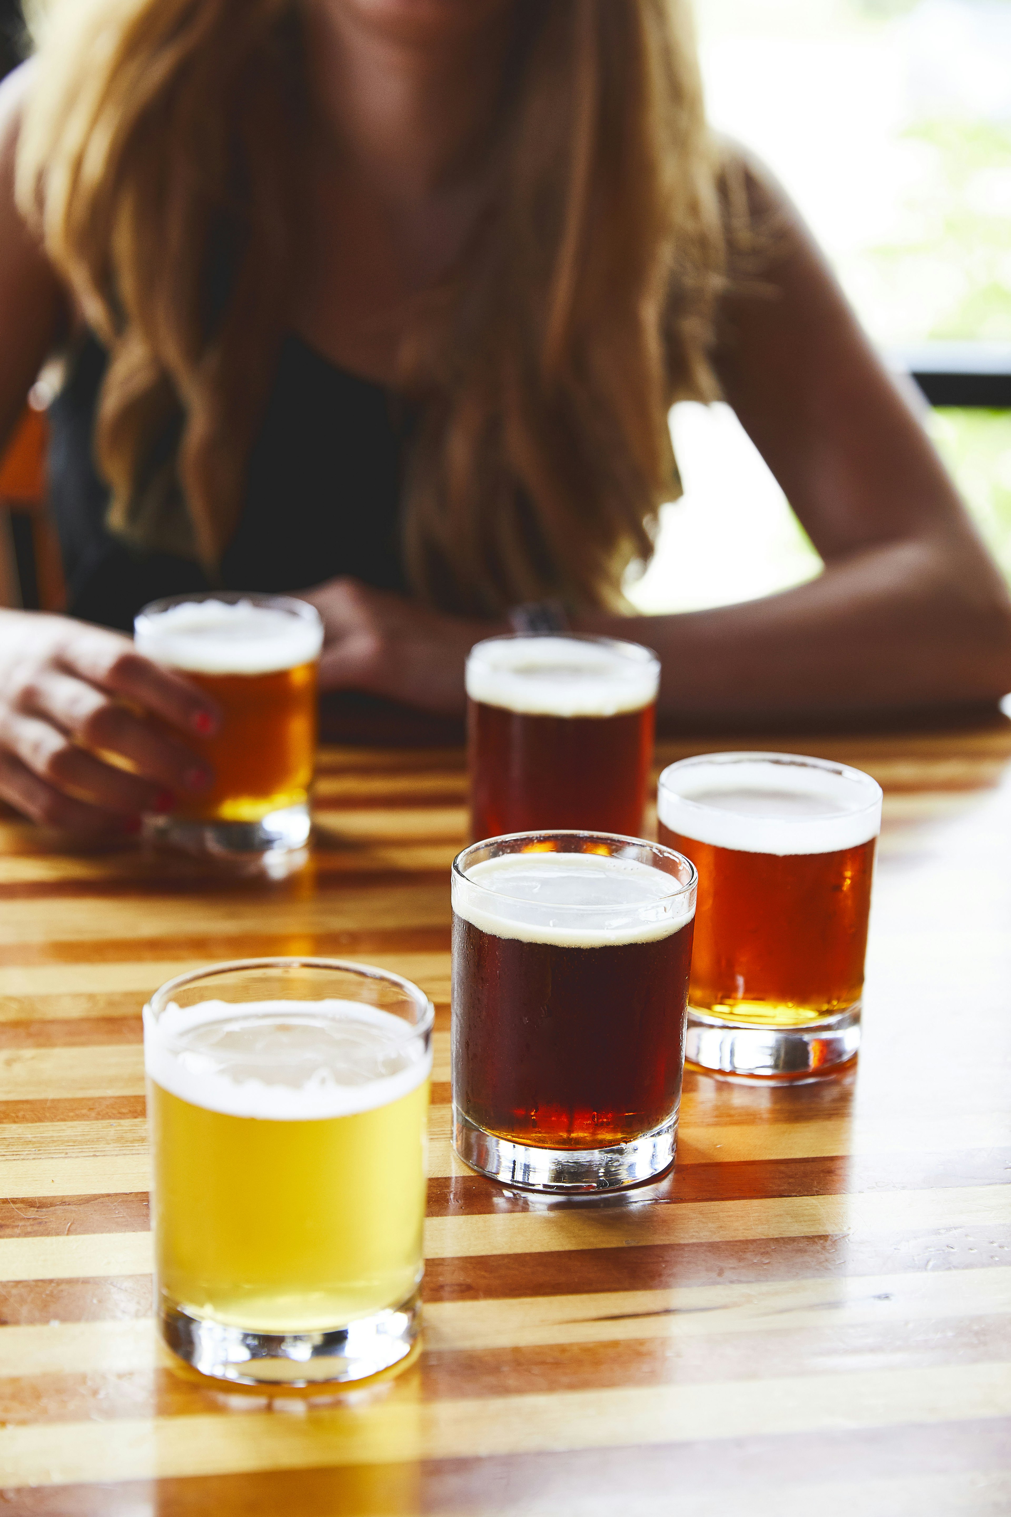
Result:
{"label": "woman's hand with red nails gripping the amber beer glass", "polygon": [[185,734],[206,737],[217,721],[200,690],[129,637],[0,611],[0,796],[33,821],[82,837],[139,831],[142,812],[211,783]]}

